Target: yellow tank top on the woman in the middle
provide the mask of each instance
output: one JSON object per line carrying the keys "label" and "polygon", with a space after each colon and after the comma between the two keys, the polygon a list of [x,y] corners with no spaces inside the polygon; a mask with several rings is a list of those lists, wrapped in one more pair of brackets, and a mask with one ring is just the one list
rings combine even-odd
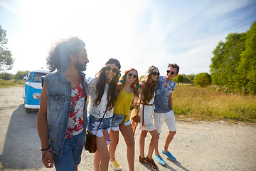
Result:
{"label": "yellow tank top on the woman in the middle", "polygon": [[134,93],[128,94],[124,88],[117,95],[117,100],[114,103],[114,113],[119,115],[126,115],[124,122],[129,120],[129,109],[134,99]]}

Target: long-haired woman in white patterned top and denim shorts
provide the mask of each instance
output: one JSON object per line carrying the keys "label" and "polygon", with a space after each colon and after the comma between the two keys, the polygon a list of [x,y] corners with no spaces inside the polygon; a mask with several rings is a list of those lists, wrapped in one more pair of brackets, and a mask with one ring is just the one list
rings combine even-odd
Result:
{"label": "long-haired woman in white patterned top and denim shorts", "polygon": [[[110,162],[106,140],[112,124],[114,102],[117,99],[116,88],[121,76],[120,68],[119,61],[110,58],[105,63],[105,67],[101,68],[95,78],[92,78],[88,83],[89,124],[87,130],[97,137],[97,150],[94,157],[95,170],[108,170],[108,163]],[[101,120],[102,123],[100,124]],[[97,130],[99,125],[100,128]]]}

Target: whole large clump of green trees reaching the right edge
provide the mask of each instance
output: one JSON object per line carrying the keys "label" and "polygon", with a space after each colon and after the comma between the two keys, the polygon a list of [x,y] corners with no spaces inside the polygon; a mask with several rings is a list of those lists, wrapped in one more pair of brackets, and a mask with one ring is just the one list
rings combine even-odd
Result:
{"label": "whole large clump of green trees reaching the right edge", "polygon": [[213,51],[213,84],[229,92],[256,94],[256,21],[245,33],[229,33]]}

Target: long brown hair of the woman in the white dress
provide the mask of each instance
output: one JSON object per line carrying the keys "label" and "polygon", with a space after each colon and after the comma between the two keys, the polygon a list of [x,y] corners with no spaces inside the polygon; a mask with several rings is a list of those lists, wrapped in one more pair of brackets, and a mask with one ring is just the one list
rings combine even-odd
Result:
{"label": "long brown hair of the woman in the white dress", "polygon": [[[146,72],[147,75],[144,76],[144,78],[142,78],[142,80],[145,81],[145,87],[144,87],[143,98],[142,98],[142,102],[144,104],[148,104],[150,102],[150,100],[154,97],[156,81],[152,81],[150,76],[155,68],[156,68],[155,66],[150,66]],[[158,68],[156,68],[156,69],[159,72],[159,69]],[[151,83],[150,83],[150,80],[152,81]]]}

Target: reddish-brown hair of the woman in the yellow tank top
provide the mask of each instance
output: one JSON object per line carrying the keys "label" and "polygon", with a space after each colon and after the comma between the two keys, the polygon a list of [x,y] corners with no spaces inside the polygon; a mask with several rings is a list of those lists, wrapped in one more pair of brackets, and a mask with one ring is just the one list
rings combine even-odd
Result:
{"label": "reddish-brown hair of the woman in the yellow tank top", "polygon": [[138,76],[138,71],[134,68],[130,68],[129,70],[127,71],[124,71],[124,76],[122,76],[120,79],[122,80],[122,82],[119,82],[117,84],[117,90],[116,90],[116,93],[119,94],[120,91],[124,88],[124,84],[125,84],[125,81],[127,79],[127,74],[130,72],[130,71],[135,71],[137,73],[137,78],[135,79],[134,83],[132,83],[132,89],[134,90],[134,95],[135,96],[139,96],[139,88],[137,87],[137,85],[139,85],[139,76]]}

